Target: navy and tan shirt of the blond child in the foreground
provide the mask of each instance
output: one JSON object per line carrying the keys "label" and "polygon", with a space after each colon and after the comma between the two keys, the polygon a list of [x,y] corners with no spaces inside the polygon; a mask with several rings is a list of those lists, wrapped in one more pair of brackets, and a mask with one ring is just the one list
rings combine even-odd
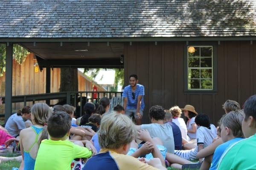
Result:
{"label": "navy and tan shirt of the blond child in the foreground", "polygon": [[158,170],[136,158],[116,153],[112,150],[100,150],[90,158],[83,170]]}

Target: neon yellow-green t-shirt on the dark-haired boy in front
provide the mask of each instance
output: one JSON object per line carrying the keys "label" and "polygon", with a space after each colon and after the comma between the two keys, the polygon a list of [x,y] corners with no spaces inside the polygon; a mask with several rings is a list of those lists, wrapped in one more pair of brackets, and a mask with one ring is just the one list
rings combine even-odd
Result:
{"label": "neon yellow-green t-shirt on the dark-haired boy in front", "polygon": [[92,151],[68,140],[41,142],[35,160],[35,170],[70,170],[71,162],[76,158],[89,158]]}

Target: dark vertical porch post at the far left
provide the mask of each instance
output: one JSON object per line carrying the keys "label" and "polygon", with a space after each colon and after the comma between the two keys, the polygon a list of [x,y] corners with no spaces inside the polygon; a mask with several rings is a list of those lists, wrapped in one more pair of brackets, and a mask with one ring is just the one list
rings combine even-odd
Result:
{"label": "dark vertical porch post at the far left", "polygon": [[5,113],[4,119],[7,122],[12,113],[12,53],[13,44],[6,45],[6,89],[5,89]]}

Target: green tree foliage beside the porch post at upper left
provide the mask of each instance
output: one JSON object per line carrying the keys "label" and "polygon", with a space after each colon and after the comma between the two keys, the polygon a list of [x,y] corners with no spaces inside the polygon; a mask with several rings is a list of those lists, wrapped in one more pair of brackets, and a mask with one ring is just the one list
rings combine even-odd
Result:
{"label": "green tree foliage beside the porch post at upper left", "polygon": [[[25,48],[20,45],[13,45],[13,58],[18,64],[22,64],[25,61],[26,56],[29,54]],[[0,44],[0,77],[6,71],[6,45]]]}

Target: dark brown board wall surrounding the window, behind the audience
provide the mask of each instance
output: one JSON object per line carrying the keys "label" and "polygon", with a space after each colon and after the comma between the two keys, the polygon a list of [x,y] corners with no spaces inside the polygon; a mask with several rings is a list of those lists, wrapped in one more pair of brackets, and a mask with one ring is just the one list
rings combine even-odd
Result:
{"label": "dark brown board wall surrounding the window, behind the audience", "polygon": [[217,88],[215,93],[184,92],[184,48],[186,42],[133,42],[125,44],[125,85],[137,74],[145,87],[143,122],[149,122],[148,109],[162,105],[168,109],[186,104],[206,113],[213,123],[224,114],[227,99],[242,106],[256,94],[256,41],[221,41],[217,45]]}

